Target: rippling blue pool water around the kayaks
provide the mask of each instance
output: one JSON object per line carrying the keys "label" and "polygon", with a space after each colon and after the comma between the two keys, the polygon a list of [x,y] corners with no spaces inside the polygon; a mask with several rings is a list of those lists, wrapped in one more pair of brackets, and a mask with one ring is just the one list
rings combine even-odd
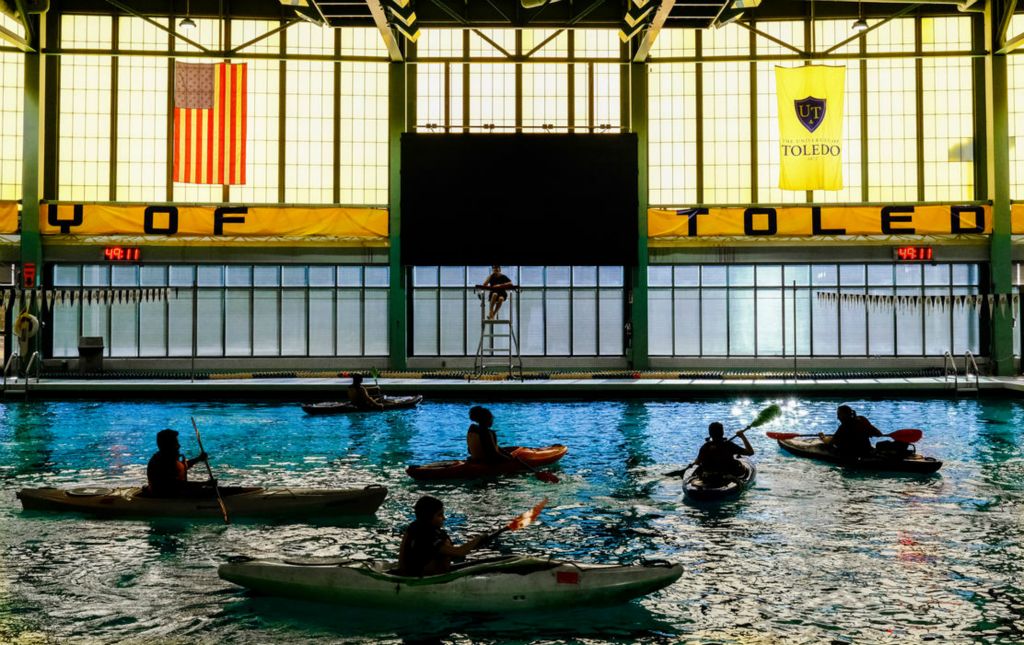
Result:
{"label": "rippling blue pool water around the kayaks", "polygon": [[[478,401],[477,401],[478,402]],[[684,504],[659,475],[695,456],[708,424],[749,436],[758,479],[720,507]],[[854,474],[783,454],[764,430],[831,431],[852,404],[883,431],[924,428],[935,475]],[[307,417],[294,404],[0,405],[0,642],[1024,641],[1024,405],[1010,400],[496,402],[504,444],[569,446],[561,482],[523,475],[418,483],[411,463],[460,458],[471,401]],[[390,492],[376,518],[224,525],[23,513],[22,487],[134,484],[158,430],[203,432],[222,483]],[[199,466],[200,473],[205,472]],[[681,562],[672,587],[614,608],[507,616],[375,612],[248,596],[217,577],[232,555],[393,557],[413,503],[445,502],[457,542],[540,499],[503,553],[599,563]],[[496,555],[494,551],[484,552]]]}

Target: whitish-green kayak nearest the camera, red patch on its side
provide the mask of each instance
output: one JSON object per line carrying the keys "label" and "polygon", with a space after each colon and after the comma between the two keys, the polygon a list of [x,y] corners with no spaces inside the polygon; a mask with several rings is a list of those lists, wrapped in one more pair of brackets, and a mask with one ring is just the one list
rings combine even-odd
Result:
{"label": "whitish-green kayak nearest the camera, red patch on its side", "polygon": [[447,573],[409,577],[394,562],[236,558],[223,579],[255,592],[340,605],[400,610],[500,612],[625,602],[668,587],[680,564],[617,566],[505,556],[456,565]]}

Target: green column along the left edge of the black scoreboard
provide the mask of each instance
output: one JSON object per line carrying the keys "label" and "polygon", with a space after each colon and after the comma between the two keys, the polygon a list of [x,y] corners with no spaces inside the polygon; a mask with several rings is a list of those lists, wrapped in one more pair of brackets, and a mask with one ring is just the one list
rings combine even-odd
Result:
{"label": "green column along the left edge of the black scoreboard", "polygon": [[409,319],[401,265],[401,134],[406,131],[406,62],[388,64],[388,354],[392,370],[404,370]]}

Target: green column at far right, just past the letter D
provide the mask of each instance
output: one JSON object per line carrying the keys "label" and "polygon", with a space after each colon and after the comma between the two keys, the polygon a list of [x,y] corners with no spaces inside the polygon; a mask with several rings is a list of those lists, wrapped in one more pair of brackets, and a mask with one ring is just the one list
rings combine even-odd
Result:
{"label": "green column at far right, just past the letter D", "polygon": [[[992,201],[989,249],[992,293],[1010,298],[1013,288],[1013,250],[1010,244],[1010,113],[1007,103],[1007,56],[995,53],[1004,43],[1002,3],[985,3],[985,122],[988,199]],[[997,376],[1014,373],[1013,308],[992,308],[992,370]]]}

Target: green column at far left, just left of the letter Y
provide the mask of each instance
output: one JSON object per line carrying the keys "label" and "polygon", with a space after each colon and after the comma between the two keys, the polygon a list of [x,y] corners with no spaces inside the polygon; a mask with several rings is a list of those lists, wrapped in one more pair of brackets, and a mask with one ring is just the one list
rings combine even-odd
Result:
{"label": "green column at far left, just left of the letter Y", "polygon": [[[24,138],[22,141],[22,275],[23,287],[42,284],[43,245],[39,236],[39,202],[42,199],[43,170],[43,106],[44,78],[43,48],[41,30],[43,23],[32,16],[34,23],[32,46],[34,51],[25,55],[25,101],[22,121]],[[16,315],[17,312],[14,312]],[[33,311],[39,315],[39,311]],[[39,346],[37,335],[29,345],[29,355]],[[29,356],[23,356],[28,361]],[[25,362],[23,362],[25,367]]]}

